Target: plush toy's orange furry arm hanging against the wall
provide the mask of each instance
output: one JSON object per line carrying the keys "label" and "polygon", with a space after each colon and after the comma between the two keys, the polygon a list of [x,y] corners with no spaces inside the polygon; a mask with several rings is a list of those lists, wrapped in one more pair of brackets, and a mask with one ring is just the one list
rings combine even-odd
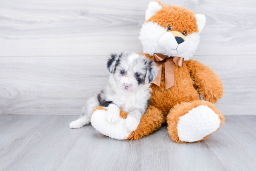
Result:
{"label": "plush toy's orange furry arm hanging against the wall", "polygon": [[195,81],[195,88],[204,100],[216,103],[223,95],[221,79],[208,66],[196,60],[187,61],[190,76]]}

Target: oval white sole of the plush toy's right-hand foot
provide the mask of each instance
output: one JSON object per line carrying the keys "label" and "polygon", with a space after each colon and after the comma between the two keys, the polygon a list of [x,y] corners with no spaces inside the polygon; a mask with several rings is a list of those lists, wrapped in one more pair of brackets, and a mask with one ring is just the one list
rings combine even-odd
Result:
{"label": "oval white sole of the plush toy's right-hand foot", "polygon": [[180,117],[178,137],[183,142],[195,142],[215,132],[221,124],[219,116],[208,106],[199,105]]}

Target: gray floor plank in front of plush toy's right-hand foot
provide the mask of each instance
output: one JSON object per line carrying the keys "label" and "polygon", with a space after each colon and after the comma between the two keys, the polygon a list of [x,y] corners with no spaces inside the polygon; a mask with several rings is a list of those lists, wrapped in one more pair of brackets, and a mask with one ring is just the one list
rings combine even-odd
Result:
{"label": "gray floor plank in front of plush toy's right-hand foot", "polygon": [[141,138],[141,171],[226,171],[205,142],[177,144],[167,125]]}

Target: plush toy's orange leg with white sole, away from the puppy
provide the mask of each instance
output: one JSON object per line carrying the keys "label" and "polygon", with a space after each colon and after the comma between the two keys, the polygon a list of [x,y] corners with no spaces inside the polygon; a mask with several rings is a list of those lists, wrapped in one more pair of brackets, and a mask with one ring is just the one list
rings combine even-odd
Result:
{"label": "plush toy's orange leg with white sole, away from the puppy", "polygon": [[216,132],[224,120],[211,102],[183,102],[175,105],[167,115],[168,133],[177,143],[199,142]]}

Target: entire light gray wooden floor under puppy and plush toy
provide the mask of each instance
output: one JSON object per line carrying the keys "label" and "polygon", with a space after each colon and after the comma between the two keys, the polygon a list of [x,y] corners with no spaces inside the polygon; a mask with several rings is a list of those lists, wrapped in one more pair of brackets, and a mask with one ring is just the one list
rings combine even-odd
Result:
{"label": "entire light gray wooden floor under puppy and plush toy", "polygon": [[177,144],[167,125],[121,141],[72,115],[0,115],[0,171],[255,171],[256,116],[226,116],[207,140]]}

